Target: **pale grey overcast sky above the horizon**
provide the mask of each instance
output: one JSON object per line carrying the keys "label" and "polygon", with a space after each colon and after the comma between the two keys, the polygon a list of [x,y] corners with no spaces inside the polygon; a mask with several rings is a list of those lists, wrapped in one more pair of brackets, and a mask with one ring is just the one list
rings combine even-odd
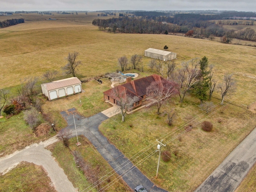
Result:
{"label": "pale grey overcast sky above the horizon", "polygon": [[0,11],[235,10],[256,12],[256,0],[1,0]]}

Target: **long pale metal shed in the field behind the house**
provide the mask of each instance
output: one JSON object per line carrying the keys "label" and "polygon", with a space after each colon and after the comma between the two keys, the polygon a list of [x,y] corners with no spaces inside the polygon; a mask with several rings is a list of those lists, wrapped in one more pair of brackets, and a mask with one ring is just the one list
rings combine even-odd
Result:
{"label": "long pale metal shed in the field behind the house", "polygon": [[150,57],[150,58],[159,59],[163,61],[176,59],[176,56],[177,56],[177,53],[163,51],[159,49],[153,49],[153,48],[148,48],[144,52],[145,52],[144,54],[145,57]]}

